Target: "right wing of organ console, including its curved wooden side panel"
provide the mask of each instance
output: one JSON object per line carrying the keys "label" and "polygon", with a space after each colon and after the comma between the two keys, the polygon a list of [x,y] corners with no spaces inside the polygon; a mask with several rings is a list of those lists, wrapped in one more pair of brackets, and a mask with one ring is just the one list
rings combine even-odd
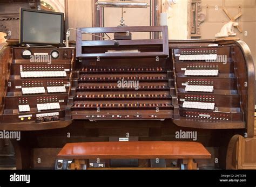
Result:
{"label": "right wing of organ console, including its curved wooden side panel", "polygon": [[179,120],[174,121],[184,121],[183,126],[191,127],[197,123],[203,128],[252,128],[247,124],[252,113],[246,108],[251,105],[250,74],[248,68],[241,68],[246,64],[245,52],[238,44],[172,48],[179,105]]}

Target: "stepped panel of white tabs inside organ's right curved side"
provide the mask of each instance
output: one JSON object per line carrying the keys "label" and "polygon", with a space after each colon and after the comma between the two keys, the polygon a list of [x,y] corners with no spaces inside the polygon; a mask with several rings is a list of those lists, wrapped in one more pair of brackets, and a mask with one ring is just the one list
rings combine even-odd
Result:
{"label": "stepped panel of white tabs inside organ's right curved side", "polygon": [[[227,90],[219,80],[226,80],[228,85],[234,82],[231,47],[180,48],[174,49],[173,54],[177,80],[187,78],[177,88],[181,117],[242,122],[237,88]],[[218,56],[225,57],[218,61]],[[214,82],[223,87],[214,88]]]}

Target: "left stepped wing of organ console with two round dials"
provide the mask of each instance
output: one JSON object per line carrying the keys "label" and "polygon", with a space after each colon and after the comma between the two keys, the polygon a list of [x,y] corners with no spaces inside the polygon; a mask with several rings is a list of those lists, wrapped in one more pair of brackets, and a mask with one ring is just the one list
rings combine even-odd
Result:
{"label": "left stepped wing of organ console with two round dials", "polygon": [[72,49],[12,47],[2,123],[65,120],[73,53]]}

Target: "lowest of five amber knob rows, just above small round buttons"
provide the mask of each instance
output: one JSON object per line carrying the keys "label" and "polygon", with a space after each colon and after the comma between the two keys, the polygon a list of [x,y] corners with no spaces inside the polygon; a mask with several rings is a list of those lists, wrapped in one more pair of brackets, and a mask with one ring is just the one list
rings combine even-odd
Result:
{"label": "lowest of five amber knob rows, just above small round buttons", "polygon": [[95,107],[169,107],[170,103],[106,103],[106,104],[92,104],[92,103],[76,103],[75,108],[95,108]]}

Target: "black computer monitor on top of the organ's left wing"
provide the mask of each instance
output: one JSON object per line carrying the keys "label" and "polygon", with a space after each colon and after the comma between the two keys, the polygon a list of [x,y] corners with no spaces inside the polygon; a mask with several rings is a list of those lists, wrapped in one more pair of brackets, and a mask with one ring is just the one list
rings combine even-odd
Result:
{"label": "black computer monitor on top of the organ's left wing", "polygon": [[60,45],[63,44],[64,13],[20,10],[21,44]]}

